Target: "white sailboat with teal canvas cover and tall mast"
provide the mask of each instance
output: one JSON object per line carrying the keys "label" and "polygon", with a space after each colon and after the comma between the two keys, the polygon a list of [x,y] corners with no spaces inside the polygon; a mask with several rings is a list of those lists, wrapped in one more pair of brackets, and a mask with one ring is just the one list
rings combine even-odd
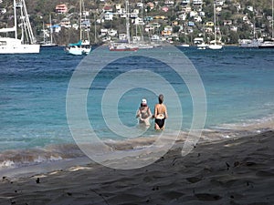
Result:
{"label": "white sailboat with teal canvas cover and tall mast", "polygon": [[[91,45],[90,45],[90,36],[87,26],[85,25],[84,31],[82,29],[82,6],[83,6],[83,0],[79,1],[79,30],[80,30],[80,36],[79,36],[79,42],[76,44],[68,44],[68,46],[65,48],[65,51],[68,54],[80,56],[80,55],[87,55],[90,54],[91,51]],[[84,6],[83,6],[84,7]],[[86,22],[86,15],[85,15],[85,22]],[[84,32],[86,33],[86,36],[84,36]],[[86,39],[85,39],[86,38]]]}

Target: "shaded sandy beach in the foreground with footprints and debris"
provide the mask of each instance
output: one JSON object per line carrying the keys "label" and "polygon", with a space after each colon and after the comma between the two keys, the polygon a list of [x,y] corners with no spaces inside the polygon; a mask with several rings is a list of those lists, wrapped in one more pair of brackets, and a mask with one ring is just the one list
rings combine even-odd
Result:
{"label": "shaded sandy beach in the foreground with footprints and debris", "polygon": [[274,132],[199,142],[185,157],[178,141],[141,169],[86,164],[31,177],[1,176],[0,204],[274,204]]}

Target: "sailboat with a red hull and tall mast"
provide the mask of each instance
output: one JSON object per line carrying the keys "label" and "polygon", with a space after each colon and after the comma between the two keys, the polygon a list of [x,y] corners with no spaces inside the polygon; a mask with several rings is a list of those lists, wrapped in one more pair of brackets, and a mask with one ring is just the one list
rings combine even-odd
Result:
{"label": "sailboat with a red hull and tall mast", "polygon": [[129,1],[126,0],[126,32],[127,42],[126,43],[112,43],[109,47],[110,51],[136,51],[139,49],[138,46],[131,43],[130,35],[130,22],[129,22]]}

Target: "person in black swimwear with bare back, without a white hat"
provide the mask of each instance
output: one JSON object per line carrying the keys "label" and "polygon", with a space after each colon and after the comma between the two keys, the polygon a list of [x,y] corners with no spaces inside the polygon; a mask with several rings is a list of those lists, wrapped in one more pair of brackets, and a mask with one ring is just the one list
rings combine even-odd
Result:
{"label": "person in black swimwear with bare back, without a white hat", "polygon": [[158,97],[159,103],[155,105],[154,108],[154,118],[155,118],[155,125],[154,128],[164,129],[164,120],[167,118],[167,109],[163,105],[163,95],[160,94]]}

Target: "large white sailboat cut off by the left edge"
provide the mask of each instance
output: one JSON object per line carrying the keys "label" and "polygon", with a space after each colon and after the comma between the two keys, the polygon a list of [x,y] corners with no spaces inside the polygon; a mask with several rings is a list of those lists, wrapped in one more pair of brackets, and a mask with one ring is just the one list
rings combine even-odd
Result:
{"label": "large white sailboat cut off by the left edge", "polygon": [[[17,14],[16,10],[20,10],[20,26],[21,39],[17,37]],[[14,0],[14,26],[10,28],[1,28],[0,35],[0,54],[36,54],[40,52],[40,45],[36,44],[36,38],[33,35],[30,26],[28,14],[26,11],[25,0]],[[13,37],[6,37],[9,33],[14,33]]]}

